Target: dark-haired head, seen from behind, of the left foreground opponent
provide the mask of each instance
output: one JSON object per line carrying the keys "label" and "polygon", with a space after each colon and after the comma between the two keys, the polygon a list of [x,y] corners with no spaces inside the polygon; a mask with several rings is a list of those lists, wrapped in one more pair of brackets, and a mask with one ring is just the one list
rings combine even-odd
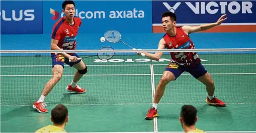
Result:
{"label": "dark-haired head, seen from behind, of the left foreground opponent", "polygon": [[51,121],[54,124],[58,125],[63,125],[68,122],[68,110],[67,107],[64,106],[63,104],[58,104],[56,105],[52,110],[51,110]]}

